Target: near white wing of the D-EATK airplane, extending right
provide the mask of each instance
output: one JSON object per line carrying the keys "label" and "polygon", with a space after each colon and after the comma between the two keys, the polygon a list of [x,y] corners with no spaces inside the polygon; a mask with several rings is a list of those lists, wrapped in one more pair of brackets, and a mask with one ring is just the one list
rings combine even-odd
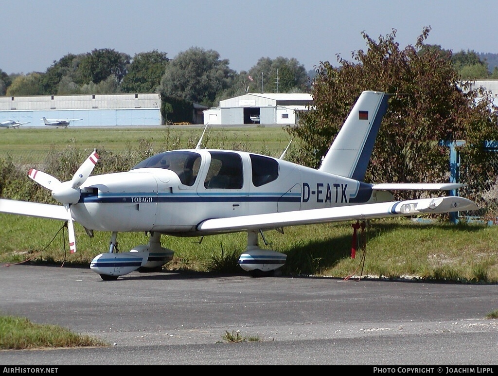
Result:
{"label": "near white wing of the D-EATK airplane, extending right", "polygon": [[341,206],[335,208],[208,219],[197,225],[197,230],[206,233],[238,232],[247,230],[258,231],[316,223],[356,221],[388,217],[410,217],[420,214],[449,213],[477,209],[477,205],[469,199],[458,196],[447,196],[419,200],[383,202],[365,205]]}

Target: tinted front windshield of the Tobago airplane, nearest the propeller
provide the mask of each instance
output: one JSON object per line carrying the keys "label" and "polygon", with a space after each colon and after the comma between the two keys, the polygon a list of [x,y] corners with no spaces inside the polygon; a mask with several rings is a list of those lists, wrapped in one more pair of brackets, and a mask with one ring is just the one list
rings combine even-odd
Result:
{"label": "tinted front windshield of the Tobago airplane, nearest the propeller", "polygon": [[201,155],[192,151],[165,151],[142,160],[132,168],[164,168],[178,175],[182,184],[192,186],[195,183]]}

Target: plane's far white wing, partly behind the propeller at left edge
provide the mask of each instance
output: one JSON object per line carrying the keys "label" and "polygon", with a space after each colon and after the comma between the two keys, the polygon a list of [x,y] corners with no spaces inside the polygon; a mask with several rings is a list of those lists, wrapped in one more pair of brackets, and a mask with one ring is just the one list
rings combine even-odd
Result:
{"label": "plane's far white wing, partly behind the propeller at left edge", "polygon": [[37,202],[26,202],[0,199],[0,213],[19,214],[29,217],[60,219],[67,221],[69,213],[60,205],[40,204]]}

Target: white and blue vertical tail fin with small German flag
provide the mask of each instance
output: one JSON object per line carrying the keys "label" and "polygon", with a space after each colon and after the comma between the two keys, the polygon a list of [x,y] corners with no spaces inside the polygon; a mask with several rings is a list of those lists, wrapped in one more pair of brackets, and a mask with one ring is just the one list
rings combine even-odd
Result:
{"label": "white and blue vertical tail fin with small German flag", "polygon": [[364,91],[339,130],[319,171],[362,181],[372,155],[388,94]]}

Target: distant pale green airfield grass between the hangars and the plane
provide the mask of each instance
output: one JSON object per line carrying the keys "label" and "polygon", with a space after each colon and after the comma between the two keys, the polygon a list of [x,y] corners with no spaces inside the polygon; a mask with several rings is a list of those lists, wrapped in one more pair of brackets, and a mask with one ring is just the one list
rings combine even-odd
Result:
{"label": "distant pale green airfield grass between the hangars and the plane", "polygon": [[[202,126],[106,127],[106,128],[27,128],[0,129],[0,157],[7,155],[23,163],[45,159],[51,150],[68,146],[81,150],[96,148],[124,151],[134,148],[140,140],[147,141],[154,150],[164,151],[195,147],[202,135]],[[210,148],[247,149],[266,155],[279,156],[291,140],[282,127],[211,127],[203,146]]]}

